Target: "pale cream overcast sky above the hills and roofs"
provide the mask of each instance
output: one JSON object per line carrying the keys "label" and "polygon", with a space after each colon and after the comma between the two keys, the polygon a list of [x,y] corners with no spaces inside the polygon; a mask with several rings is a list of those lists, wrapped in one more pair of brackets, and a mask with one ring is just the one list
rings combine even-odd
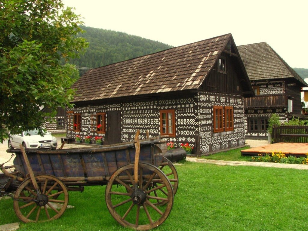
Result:
{"label": "pale cream overcast sky above the hills and roofs", "polygon": [[308,1],[63,0],[85,26],[171,46],[232,33],[235,44],[267,42],[291,67],[308,68]]}

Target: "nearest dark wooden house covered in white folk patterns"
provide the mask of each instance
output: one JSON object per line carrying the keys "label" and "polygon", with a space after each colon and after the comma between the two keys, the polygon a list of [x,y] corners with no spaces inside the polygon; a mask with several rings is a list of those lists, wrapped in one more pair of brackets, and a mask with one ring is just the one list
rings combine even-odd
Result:
{"label": "nearest dark wooden house covered in white folk patterns", "polygon": [[254,95],[231,34],[91,69],[72,87],[67,137],[113,144],[148,130],[194,153],[244,145],[243,98]]}

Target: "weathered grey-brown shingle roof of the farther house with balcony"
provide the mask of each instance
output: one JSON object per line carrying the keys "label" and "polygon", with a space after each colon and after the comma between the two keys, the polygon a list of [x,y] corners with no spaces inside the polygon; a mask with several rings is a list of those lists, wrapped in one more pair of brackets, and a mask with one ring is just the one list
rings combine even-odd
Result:
{"label": "weathered grey-brown shingle roof of the farther house with balcony", "polygon": [[250,81],[294,78],[305,81],[266,42],[237,47]]}

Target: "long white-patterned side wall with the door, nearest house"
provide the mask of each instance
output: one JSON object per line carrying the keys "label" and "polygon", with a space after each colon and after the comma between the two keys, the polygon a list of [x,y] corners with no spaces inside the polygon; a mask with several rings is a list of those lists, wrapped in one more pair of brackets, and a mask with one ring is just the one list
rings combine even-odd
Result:
{"label": "long white-patterned side wall with the door, nearest house", "polygon": [[[103,136],[90,130],[91,115],[99,112],[120,111],[121,124],[121,141],[133,141],[137,129],[140,129],[140,138],[146,138],[146,130],[149,131],[150,137],[160,135],[160,110],[175,109],[176,119],[176,137],[170,137],[168,140],[175,142],[178,147],[180,143],[188,142],[194,146],[196,141],[195,133],[198,132],[197,116],[195,115],[197,107],[197,97],[182,99],[166,99],[157,101],[131,102],[118,104],[105,104],[99,106],[77,107],[68,109],[74,113],[81,113],[81,132],[73,130],[67,131],[67,137],[80,135],[82,139],[85,136]],[[72,124],[72,122],[68,122]],[[106,116],[106,124],[108,116]]]}

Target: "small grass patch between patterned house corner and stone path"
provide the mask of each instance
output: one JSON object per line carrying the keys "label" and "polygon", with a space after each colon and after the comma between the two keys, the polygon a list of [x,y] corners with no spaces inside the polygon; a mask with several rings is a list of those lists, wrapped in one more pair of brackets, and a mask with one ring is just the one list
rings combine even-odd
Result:
{"label": "small grass patch between patterned house corner and stone path", "polygon": [[238,160],[238,161],[249,161],[251,156],[241,156],[241,150],[248,149],[249,146],[244,148],[236,148],[232,150],[228,150],[225,152],[217,152],[209,156],[201,156],[204,159],[210,160]]}

